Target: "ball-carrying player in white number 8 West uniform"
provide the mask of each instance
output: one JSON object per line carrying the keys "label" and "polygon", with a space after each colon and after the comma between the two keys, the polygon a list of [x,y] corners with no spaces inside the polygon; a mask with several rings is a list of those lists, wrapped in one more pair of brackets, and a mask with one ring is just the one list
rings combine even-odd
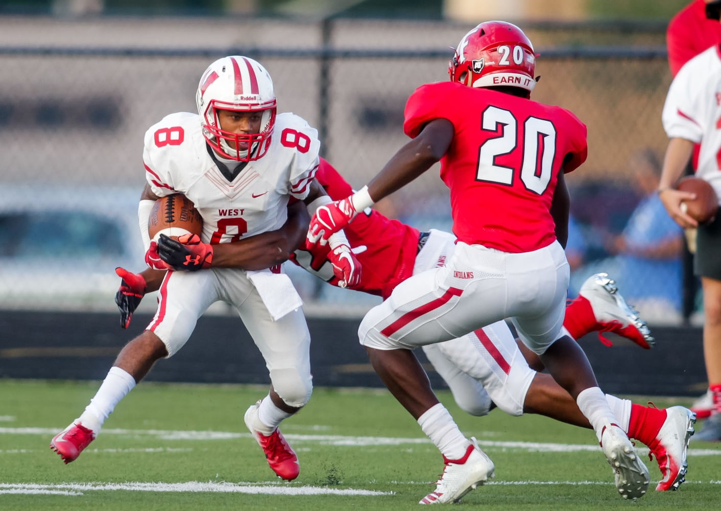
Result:
{"label": "ball-carrying player in white number 8 West uniform", "polygon": [[[269,393],[247,409],[244,422],[270,468],[292,480],[298,476],[298,458],[278,424],[311,396],[310,335],[293,284],[270,266],[284,261],[300,243],[298,233],[306,231],[308,215],[299,210],[308,204],[313,211],[330,202],[314,180],[320,142],[304,119],[276,114],[270,74],[251,58],[213,62],[200,78],[196,102],[198,114],[167,115],[146,132],[147,183],[138,206],[146,263],[165,271],[169,266],[159,258],[157,240],[149,238],[149,214],[158,198],[172,193],[193,201],[203,232],[198,243],[187,245],[182,264],[190,271],[165,274],[155,317],[120,351],[83,414],[53,437],[50,447],[65,463],[75,460],[152,365],[180,350],[200,315],[213,302],[224,301],[240,315],[271,380]],[[288,206],[291,198],[302,201],[300,206]],[[295,211],[290,219],[289,210]],[[214,260],[215,247],[241,239],[260,252],[257,260],[246,266],[226,264],[222,250]],[[360,279],[360,265],[345,235],[333,245],[333,268],[343,284],[352,286]],[[118,274],[128,277],[123,284],[139,301],[142,277],[122,268]]]}

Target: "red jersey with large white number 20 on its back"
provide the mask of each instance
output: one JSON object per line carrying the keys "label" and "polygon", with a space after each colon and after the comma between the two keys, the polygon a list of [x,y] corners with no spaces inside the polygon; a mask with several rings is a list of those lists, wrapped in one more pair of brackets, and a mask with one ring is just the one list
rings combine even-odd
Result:
{"label": "red jersey with large white number 20 on its back", "polygon": [[456,82],[418,87],[404,131],[414,138],[437,118],[455,129],[441,179],[458,239],[511,253],[552,243],[557,175],[585,161],[585,124],[564,108]]}

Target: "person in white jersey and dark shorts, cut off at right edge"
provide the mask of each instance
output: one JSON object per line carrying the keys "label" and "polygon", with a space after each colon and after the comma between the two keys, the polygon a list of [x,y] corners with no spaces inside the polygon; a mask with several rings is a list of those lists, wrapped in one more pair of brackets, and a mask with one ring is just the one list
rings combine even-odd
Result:
{"label": "person in white jersey and dark shorts, cut off at right edge", "polygon": [[[718,9],[715,11],[718,16]],[[718,22],[718,20],[717,20]],[[701,277],[704,302],[704,362],[712,397],[712,411],[694,440],[721,441],[721,215],[699,225],[682,204],[693,193],[678,191],[694,144],[700,144],[696,178],[706,180],[721,201],[721,46],[691,58],[676,74],[663,105],[663,128],[670,139],[663,161],[658,193],[663,205],[684,228],[696,228],[694,274]]]}

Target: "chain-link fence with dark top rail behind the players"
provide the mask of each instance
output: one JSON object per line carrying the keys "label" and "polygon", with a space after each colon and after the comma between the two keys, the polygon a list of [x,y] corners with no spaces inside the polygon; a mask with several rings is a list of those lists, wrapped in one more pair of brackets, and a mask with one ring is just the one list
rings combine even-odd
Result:
{"label": "chain-link fence with dark top rail behind the players", "polygon": [[[198,22],[194,33],[205,34],[207,24]],[[261,61],[273,77],[279,111],[292,111],[319,128],[324,157],[360,187],[406,141],[407,97],[420,84],[447,79],[452,51],[446,47],[471,28],[334,20],[286,23],[277,32],[277,25],[245,20],[233,33],[247,30],[250,40],[188,36],[187,46],[177,44],[169,27],[165,38],[157,37],[172,45],[133,43],[123,32],[127,25],[113,29],[123,38],[105,38],[102,46],[88,45],[80,31],[77,43],[63,32],[63,46],[46,45],[43,38],[52,35],[54,25],[32,43],[0,38],[0,307],[112,310],[118,285],[113,268],[140,271],[142,254],[134,242],[131,249],[89,248],[94,241],[88,233],[94,231],[87,215],[117,224],[118,236],[138,237],[131,203],[144,183],[143,134],[168,113],[195,111],[198,79],[216,58],[243,54]],[[221,36],[229,30],[227,22],[215,28]],[[580,198],[572,209],[587,263],[612,255],[603,238],[623,230],[641,199],[632,155],[646,148],[663,156],[667,139],[660,113],[671,82],[664,30],[619,22],[536,24],[526,30],[540,54],[534,100],[562,105],[588,125],[588,162],[568,179],[572,199]],[[225,45],[205,47],[207,40]],[[421,229],[450,230],[448,193],[434,170],[379,208]],[[68,210],[76,217],[60,222],[58,211]],[[32,222],[27,211],[44,224],[28,232],[22,224]],[[112,257],[113,250],[123,256]],[[102,258],[79,258],[87,251],[101,252]],[[681,254],[676,263],[681,268]],[[311,313],[319,304],[325,314],[347,314],[348,307],[361,313],[376,302],[360,293],[326,290],[295,271],[291,276]],[[654,278],[653,270],[644,277]],[[619,284],[632,301],[636,290]],[[683,285],[679,273],[666,287],[681,296]],[[674,302],[671,309],[673,316],[657,305],[642,313],[652,321],[681,320],[680,305]]]}

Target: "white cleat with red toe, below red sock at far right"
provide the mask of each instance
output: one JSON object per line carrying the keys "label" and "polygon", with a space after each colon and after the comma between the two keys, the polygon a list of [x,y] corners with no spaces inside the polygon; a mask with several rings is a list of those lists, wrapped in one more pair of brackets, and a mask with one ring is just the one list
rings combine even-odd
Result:
{"label": "white cleat with red toe, below red sock at far right", "polygon": [[694,434],[696,414],[683,406],[671,406],[666,409],[666,420],[658,430],[658,434],[648,446],[651,459],[656,457],[662,479],[656,486],[657,492],[677,490],[686,481],[686,469],[689,466],[686,452],[689,440]]}

